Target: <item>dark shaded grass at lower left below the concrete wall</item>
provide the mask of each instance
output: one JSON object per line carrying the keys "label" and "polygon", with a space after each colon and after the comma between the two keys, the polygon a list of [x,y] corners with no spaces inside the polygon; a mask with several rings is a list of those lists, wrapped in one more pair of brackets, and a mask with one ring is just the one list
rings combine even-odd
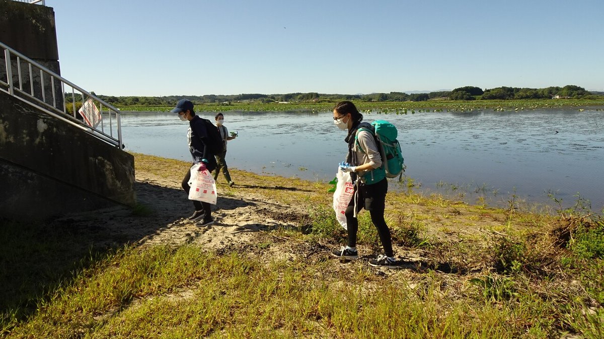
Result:
{"label": "dark shaded grass at lower left below the concrete wall", "polygon": [[0,329],[27,318],[65,281],[112,252],[70,224],[0,221]]}

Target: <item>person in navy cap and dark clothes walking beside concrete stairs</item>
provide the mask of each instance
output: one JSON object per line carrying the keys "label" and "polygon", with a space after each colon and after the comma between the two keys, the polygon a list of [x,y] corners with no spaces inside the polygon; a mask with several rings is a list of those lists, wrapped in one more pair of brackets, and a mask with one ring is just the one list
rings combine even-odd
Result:
{"label": "person in navy cap and dark clothes walking beside concrete stairs", "polygon": [[[191,152],[191,156],[193,157],[193,165],[197,163],[201,163],[207,168],[208,171],[214,170],[216,168],[216,159],[214,159],[214,155],[208,150],[207,147],[207,139],[208,132],[206,130],[205,124],[198,115],[195,115],[195,111],[193,110],[193,103],[191,101],[182,99],[178,101],[176,107],[171,110],[172,113],[178,113],[178,118],[181,121],[188,121],[189,128],[187,132],[187,139],[189,145],[189,151]],[[202,168],[204,167],[202,166]],[[187,170],[187,174],[182,179],[182,189],[185,192],[188,192],[191,187],[188,184],[188,181],[191,179],[191,171],[190,168]],[[188,220],[197,221],[202,220],[199,226],[208,226],[214,223],[212,219],[212,211],[210,209],[210,203],[206,203],[204,201],[193,201],[193,206],[195,211],[191,217],[188,217]]]}

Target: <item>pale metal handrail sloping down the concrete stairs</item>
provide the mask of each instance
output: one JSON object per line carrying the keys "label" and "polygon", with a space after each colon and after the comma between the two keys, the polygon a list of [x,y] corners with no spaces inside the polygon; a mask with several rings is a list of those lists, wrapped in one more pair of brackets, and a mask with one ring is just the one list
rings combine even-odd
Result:
{"label": "pale metal handrail sloping down the concrete stairs", "polygon": [[[75,125],[104,142],[108,142],[118,148],[124,148],[123,139],[121,138],[119,109],[101,100],[96,95],[76,86],[50,69],[34,62],[18,51],[4,45],[4,43],[0,42],[0,48],[4,49],[4,53],[2,54],[6,66],[5,80],[7,80],[4,82],[4,79],[0,78],[0,90],[19,98],[31,106],[37,107],[48,115]],[[14,60],[16,65],[13,65],[13,55],[14,59],[16,59]],[[2,58],[2,55],[0,55],[0,58]],[[22,69],[22,64],[26,66],[25,71]],[[15,69],[16,77],[13,75]],[[2,71],[1,68],[0,71]],[[36,81],[34,81],[34,77]],[[24,82],[26,83],[27,81],[29,81],[29,86],[25,86],[26,88],[24,89]],[[66,90],[69,92],[66,92]],[[59,91],[60,93],[57,93]],[[69,115],[66,111],[66,104],[68,104],[66,99],[68,97],[71,97],[70,104],[72,105],[73,115]],[[77,119],[76,98],[78,98],[77,101],[79,101],[79,98],[82,98],[82,105],[86,101],[92,100],[94,106],[97,106],[101,115],[97,127],[92,127]],[[106,121],[103,115],[108,115],[109,121]],[[115,120],[112,118],[114,116]],[[108,131],[106,132],[107,129]]]}

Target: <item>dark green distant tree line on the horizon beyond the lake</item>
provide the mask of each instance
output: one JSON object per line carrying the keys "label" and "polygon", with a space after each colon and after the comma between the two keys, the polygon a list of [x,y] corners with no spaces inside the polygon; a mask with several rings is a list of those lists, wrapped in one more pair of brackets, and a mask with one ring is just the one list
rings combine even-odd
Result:
{"label": "dark green distant tree line on the horizon beyond the lake", "polygon": [[[519,88],[495,87],[481,89],[475,86],[458,87],[451,91],[430,93],[370,93],[370,94],[324,94],[324,93],[286,93],[260,94],[242,93],[237,95],[169,95],[165,97],[115,97],[97,95],[114,106],[172,106],[182,98],[188,98],[196,104],[231,104],[236,102],[333,102],[341,100],[360,101],[429,101],[429,100],[518,100],[518,99],[551,99],[551,98],[603,98],[604,92],[588,92],[583,87],[567,85],[564,87]],[[66,100],[71,102],[71,95],[66,93]],[[77,99],[76,99],[77,100]]]}

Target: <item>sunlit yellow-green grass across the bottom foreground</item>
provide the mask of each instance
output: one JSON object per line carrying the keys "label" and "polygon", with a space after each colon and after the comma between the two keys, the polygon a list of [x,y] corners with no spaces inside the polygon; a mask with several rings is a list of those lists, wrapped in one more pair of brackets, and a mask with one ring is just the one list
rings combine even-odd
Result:
{"label": "sunlit yellow-green grass across the bottom foreground", "polygon": [[5,334],[510,338],[527,331],[547,337],[551,329],[539,319],[543,314],[538,307],[547,305],[507,301],[517,293],[509,291],[511,282],[489,280],[476,288],[475,295],[484,297],[459,299],[443,290],[442,277],[435,274],[406,284],[376,279],[365,268],[342,274],[332,265],[266,265],[234,254],[215,256],[194,246],[124,249],[56,290],[27,322],[11,324]]}

